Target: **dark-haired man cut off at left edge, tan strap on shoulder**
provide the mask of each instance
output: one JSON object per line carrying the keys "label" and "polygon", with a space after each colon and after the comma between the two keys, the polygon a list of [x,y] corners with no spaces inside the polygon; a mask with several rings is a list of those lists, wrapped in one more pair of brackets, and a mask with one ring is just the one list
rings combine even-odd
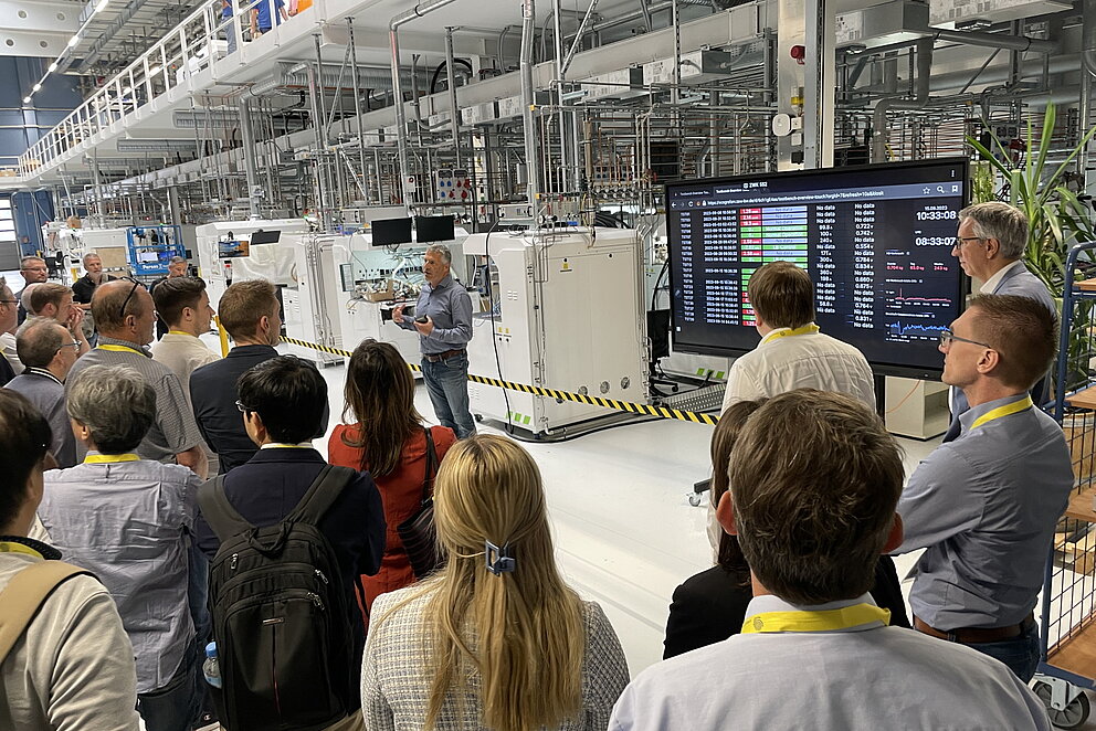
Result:
{"label": "dark-haired man cut off at left edge, tan strap on shoulder", "polygon": [[[0,389],[0,591],[61,552],[28,538],[53,467],[50,425]],[[0,615],[11,602],[0,603]],[[7,617],[4,617],[7,619]],[[0,729],[137,731],[133,646],[110,594],[93,576],[61,583],[0,665]]]}

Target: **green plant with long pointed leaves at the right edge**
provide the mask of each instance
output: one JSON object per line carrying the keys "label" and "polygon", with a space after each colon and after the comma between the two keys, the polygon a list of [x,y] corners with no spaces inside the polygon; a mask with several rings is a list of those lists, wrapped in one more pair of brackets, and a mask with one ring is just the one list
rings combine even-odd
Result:
{"label": "green plant with long pointed leaves at the right edge", "polygon": [[[1010,202],[1028,216],[1028,243],[1024,247],[1024,262],[1028,267],[1046,285],[1057,300],[1060,308],[1066,278],[1066,257],[1069,248],[1082,241],[1096,241],[1096,230],[1093,226],[1092,209],[1085,201],[1078,200],[1077,194],[1066,184],[1077,156],[1093,138],[1096,127],[1084,130],[1077,145],[1066,153],[1064,160],[1056,167],[1047,165],[1054,135],[1056,109],[1047,105],[1043,114],[1042,133],[1035,139],[1031,119],[1028,120],[1025,141],[1026,152],[1023,162],[1012,163],[1009,147],[997,135],[990,134],[990,149],[972,137],[967,142],[977,150],[984,162],[995,169],[1005,180]],[[989,128],[989,125],[986,125]],[[990,194],[986,198],[984,170],[976,168],[974,200],[993,200]],[[992,191],[992,183],[990,183]],[[1090,253],[1089,253],[1090,254]],[[1094,259],[1084,256],[1078,269],[1087,268]],[[1074,273],[1076,278],[1084,278],[1083,272]],[[1072,391],[1084,385],[1089,380],[1089,362],[1093,358],[1093,308],[1092,301],[1081,300],[1073,311],[1073,322],[1069,328],[1069,345],[1067,351],[1066,390]],[[1056,377],[1056,372],[1055,372]]]}

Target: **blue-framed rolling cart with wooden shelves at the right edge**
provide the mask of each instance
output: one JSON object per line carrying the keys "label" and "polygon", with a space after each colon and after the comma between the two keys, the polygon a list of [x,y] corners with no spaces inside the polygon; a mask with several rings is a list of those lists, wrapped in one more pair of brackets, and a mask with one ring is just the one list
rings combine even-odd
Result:
{"label": "blue-framed rolling cart with wooden shelves at the right edge", "polygon": [[1094,254],[1096,243],[1077,244],[1065,267],[1052,415],[1069,444],[1076,484],[1046,562],[1033,685],[1051,722],[1063,729],[1088,719],[1085,690],[1096,688],[1096,279],[1076,279],[1078,266],[1093,262]]}

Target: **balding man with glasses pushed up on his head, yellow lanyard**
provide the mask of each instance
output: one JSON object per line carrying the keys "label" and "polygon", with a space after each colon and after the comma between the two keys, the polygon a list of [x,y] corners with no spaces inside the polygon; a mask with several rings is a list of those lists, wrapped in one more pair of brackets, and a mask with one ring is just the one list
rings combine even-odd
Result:
{"label": "balding man with glasses pushed up on his head, yellow lanyard", "polygon": [[95,288],[92,315],[99,329],[99,345],[76,361],[66,390],[91,366],[133,368],[156,391],[156,421],[137,454],[145,459],[176,462],[204,479],[208,464],[202,437],[179,378],[145,349],[152,341],[156,322],[151,295],[136,279],[107,282]]}

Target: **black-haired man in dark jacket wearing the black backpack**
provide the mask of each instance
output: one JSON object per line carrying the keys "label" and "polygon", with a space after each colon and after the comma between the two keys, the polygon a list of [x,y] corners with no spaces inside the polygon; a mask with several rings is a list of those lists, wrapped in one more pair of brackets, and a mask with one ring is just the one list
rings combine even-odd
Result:
{"label": "black-haired man in dark jacket wearing the black backpack", "polygon": [[[259,451],[224,476],[224,494],[244,520],[256,527],[272,526],[301,502],[326,466],[312,439],[324,431],[327,382],[312,363],[280,356],[244,372],[236,383],[236,394],[238,414]],[[365,632],[355,586],[361,574],[377,573],[384,550],[384,513],[368,473],[360,473],[342,489],[317,527],[335,552],[347,592],[348,621],[355,637],[351,667],[357,674]],[[210,559],[214,558],[220,540],[201,513],[197,532],[198,545]],[[294,672],[312,671],[318,670],[294,668]],[[360,728],[360,721],[359,714],[357,723],[346,728]]]}

